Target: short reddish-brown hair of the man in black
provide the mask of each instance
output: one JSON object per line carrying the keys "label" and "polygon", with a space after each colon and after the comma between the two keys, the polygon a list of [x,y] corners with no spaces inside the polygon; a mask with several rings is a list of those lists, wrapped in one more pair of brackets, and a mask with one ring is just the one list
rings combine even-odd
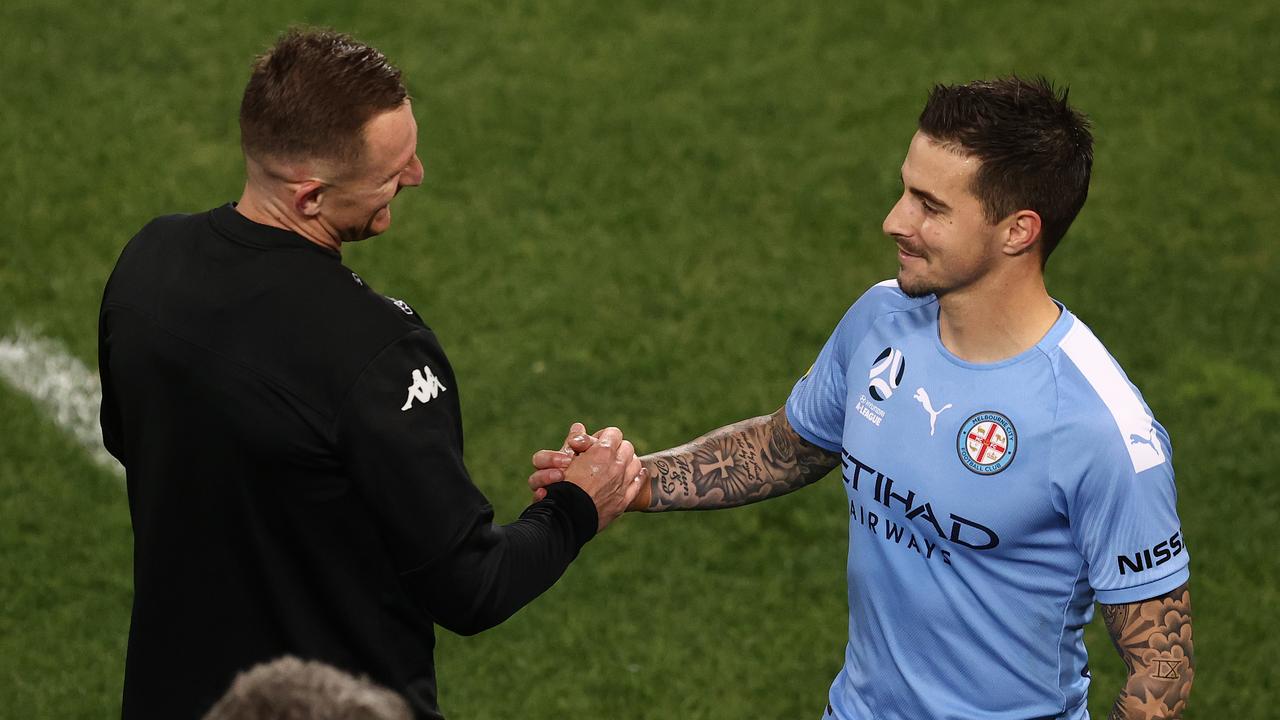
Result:
{"label": "short reddish-brown hair of the man in black", "polygon": [[375,47],[330,29],[289,28],[253,60],[241,101],[241,146],[250,158],[360,160],[364,127],[408,92]]}

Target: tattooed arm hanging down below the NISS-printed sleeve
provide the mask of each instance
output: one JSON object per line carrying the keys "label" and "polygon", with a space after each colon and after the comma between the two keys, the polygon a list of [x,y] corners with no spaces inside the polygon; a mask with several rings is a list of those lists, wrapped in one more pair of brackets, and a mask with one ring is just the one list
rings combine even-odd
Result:
{"label": "tattooed arm hanging down below the NISS-printed sleeve", "polygon": [[1180,719],[1196,676],[1187,585],[1142,602],[1103,605],[1102,619],[1129,669],[1107,720]]}

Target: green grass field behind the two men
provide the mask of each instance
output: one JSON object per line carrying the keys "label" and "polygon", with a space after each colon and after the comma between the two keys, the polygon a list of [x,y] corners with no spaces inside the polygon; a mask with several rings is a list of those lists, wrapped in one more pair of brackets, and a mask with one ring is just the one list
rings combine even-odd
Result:
{"label": "green grass field behind the two men", "polygon": [[[658,450],[783,402],[896,268],[879,224],[933,82],[1070,83],[1097,160],[1050,290],[1174,438],[1188,717],[1275,716],[1274,3],[205,5],[0,6],[0,336],[28,328],[92,366],[131,234],[238,197],[252,55],[289,23],[349,31],[404,69],[426,182],[344,260],[443,340],[468,466],[502,519],[527,502],[529,454],[573,419]],[[111,716],[123,484],[3,384],[0,428],[0,715]],[[846,633],[842,497],[828,478],[737,511],[625,518],[509,623],[442,633],[444,711],[817,717]],[[1105,716],[1123,667],[1089,630]]]}

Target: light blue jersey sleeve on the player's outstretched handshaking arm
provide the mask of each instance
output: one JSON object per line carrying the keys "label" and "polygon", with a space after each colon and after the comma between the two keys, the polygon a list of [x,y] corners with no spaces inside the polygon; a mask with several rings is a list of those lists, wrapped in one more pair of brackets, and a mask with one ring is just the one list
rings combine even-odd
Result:
{"label": "light blue jersey sleeve on the player's outstretched handshaking arm", "polygon": [[854,302],[827,338],[818,359],[787,397],[787,421],[806,441],[840,452],[849,405],[846,378],[849,356],[870,329],[884,300],[899,295],[896,283],[872,287]]}

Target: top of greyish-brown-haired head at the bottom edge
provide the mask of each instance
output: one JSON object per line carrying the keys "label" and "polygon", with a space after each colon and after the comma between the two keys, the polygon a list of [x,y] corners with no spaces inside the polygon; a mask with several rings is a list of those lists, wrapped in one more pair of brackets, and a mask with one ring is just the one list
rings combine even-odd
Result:
{"label": "top of greyish-brown-haired head at the bottom edge", "polygon": [[365,678],[287,656],[236,676],[204,720],[412,720],[404,698]]}

